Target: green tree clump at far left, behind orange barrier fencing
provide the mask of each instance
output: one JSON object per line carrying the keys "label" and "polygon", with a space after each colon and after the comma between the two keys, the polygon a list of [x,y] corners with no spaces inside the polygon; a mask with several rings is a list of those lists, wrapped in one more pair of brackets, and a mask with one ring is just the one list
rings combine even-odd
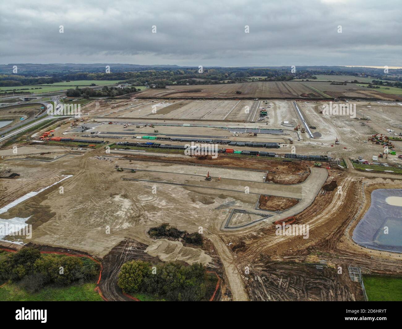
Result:
{"label": "green tree clump at far left, behind orange barrier fencing", "polygon": [[10,280],[31,293],[48,284],[66,286],[87,282],[98,274],[98,264],[86,257],[43,255],[33,248],[22,248],[16,253],[0,252],[0,283]]}

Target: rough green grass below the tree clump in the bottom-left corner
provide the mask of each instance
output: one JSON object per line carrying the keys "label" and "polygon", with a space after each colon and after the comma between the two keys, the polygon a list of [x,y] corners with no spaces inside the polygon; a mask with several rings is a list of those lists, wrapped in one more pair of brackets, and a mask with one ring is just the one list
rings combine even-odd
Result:
{"label": "rough green grass below the tree clump in the bottom-left corner", "polygon": [[94,291],[94,283],[74,284],[68,287],[47,287],[30,294],[17,284],[8,283],[0,288],[1,301],[103,301]]}

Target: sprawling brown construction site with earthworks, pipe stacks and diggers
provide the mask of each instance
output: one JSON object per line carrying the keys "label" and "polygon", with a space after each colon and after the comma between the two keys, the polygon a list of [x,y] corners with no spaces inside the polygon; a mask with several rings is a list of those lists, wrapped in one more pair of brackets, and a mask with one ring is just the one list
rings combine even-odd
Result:
{"label": "sprawling brown construction site with earthworks, pipe stacks and diggers", "polygon": [[[356,101],[352,117],[327,115],[318,97],[157,91],[94,99],[80,117],[5,136],[0,223],[32,236],[0,234],[0,246],[95,257],[109,300],[127,300],[123,254],[201,263],[219,276],[215,300],[367,300],[356,273],[401,276],[402,103]],[[386,238],[370,219],[379,189],[391,191],[375,196],[390,211]],[[148,234],[166,222],[201,232],[203,246]]]}

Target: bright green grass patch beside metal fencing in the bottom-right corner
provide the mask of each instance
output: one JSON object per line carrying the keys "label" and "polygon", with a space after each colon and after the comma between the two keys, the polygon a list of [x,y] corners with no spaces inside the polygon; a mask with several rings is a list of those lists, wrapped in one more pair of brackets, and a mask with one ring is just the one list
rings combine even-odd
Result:
{"label": "bright green grass patch beside metal fencing in the bottom-right corner", "polygon": [[402,301],[402,278],[363,276],[369,301]]}

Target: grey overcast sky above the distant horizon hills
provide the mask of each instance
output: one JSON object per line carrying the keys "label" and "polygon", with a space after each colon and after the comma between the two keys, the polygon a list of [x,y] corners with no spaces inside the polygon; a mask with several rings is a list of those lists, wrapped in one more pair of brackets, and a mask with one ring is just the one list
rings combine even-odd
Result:
{"label": "grey overcast sky above the distant horizon hills", "polygon": [[399,0],[12,0],[0,64],[401,66],[401,32]]}

